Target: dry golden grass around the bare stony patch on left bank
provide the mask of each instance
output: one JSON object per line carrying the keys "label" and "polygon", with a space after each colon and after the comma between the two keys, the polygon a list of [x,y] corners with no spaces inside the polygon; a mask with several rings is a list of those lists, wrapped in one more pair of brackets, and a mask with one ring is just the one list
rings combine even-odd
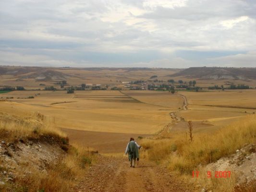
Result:
{"label": "dry golden grass around the bare stony patch on left bank", "polygon": [[[0,138],[7,142],[15,143],[21,138],[40,140],[47,138],[46,136],[53,137],[66,153],[56,156],[58,160],[51,162],[45,172],[38,170],[32,164],[19,163],[19,167],[15,170],[19,176],[15,178],[15,182],[1,186],[0,191],[9,192],[8,188],[11,188],[17,192],[67,192],[83,177],[86,167],[93,161],[91,151],[79,145],[68,145],[66,135],[54,128],[51,120],[40,113],[27,118],[18,118],[4,113],[0,115]],[[52,143],[52,140],[50,142]],[[22,162],[23,159],[19,161]],[[30,174],[26,174],[28,171]]]}

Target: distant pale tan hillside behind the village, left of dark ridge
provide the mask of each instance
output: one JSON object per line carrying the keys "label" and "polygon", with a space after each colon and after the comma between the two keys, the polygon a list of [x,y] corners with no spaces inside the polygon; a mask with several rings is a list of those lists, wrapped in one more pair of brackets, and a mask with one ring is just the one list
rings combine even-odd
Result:
{"label": "distant pale tan hillside behind the village, left of dark ridge", "polygon": [[158,76],[167,80],[166,75],[179,69],[162,68],[75,68],[75,67],[22,67],[0,66],[0,86],[24,86],[27,89],[44,88],[65,80],[69,85],[77,84],[122,84],[137,80],[148,80]]}

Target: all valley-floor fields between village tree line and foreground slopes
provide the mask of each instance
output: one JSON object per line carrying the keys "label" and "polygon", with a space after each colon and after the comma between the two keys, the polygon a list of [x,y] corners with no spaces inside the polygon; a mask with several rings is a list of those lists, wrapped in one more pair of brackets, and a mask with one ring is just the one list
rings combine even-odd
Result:
{"label": "all valley-floor fields between village tree line and foreground slopes", "polygon": [[[188,110],[183,109],[183,95]],[[255,90],[178,92],[161,91],[12,91],[0,97],[1,112],[29,116],[38,111],[51,117],[66,132],[71,143],[101,152],[122,152],[129,137],[146,137],[163,130],[171,112],[183,118],[171,127],[171,134],[187,131],[192,120],[195,132],[209,132],[253,113]],[[34,96],[34,99],[25,99]],[[18,98],[19,97],[19,98]],[[225,106],[225,107],[223,107]],[[245,110],[247,111],[245,113]]]}

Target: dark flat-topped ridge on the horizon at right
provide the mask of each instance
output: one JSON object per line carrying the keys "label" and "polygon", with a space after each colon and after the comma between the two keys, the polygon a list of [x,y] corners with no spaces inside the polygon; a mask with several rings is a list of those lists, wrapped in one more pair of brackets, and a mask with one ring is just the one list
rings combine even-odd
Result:
{"label": "dark flat-topped ridge on the horizon at right", "polygon": [[256,68],[190,67],[169,77],[184,76],[196,79],[256,79]]}

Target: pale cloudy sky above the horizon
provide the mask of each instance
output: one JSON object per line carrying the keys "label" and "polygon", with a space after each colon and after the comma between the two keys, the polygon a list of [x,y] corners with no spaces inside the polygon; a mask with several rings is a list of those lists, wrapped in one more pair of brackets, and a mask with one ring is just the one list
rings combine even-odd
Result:
{"label": "pale cloudy sky above the horizon", "polygon": [[256,67],[256,0],[0,0],[0,65]]}

